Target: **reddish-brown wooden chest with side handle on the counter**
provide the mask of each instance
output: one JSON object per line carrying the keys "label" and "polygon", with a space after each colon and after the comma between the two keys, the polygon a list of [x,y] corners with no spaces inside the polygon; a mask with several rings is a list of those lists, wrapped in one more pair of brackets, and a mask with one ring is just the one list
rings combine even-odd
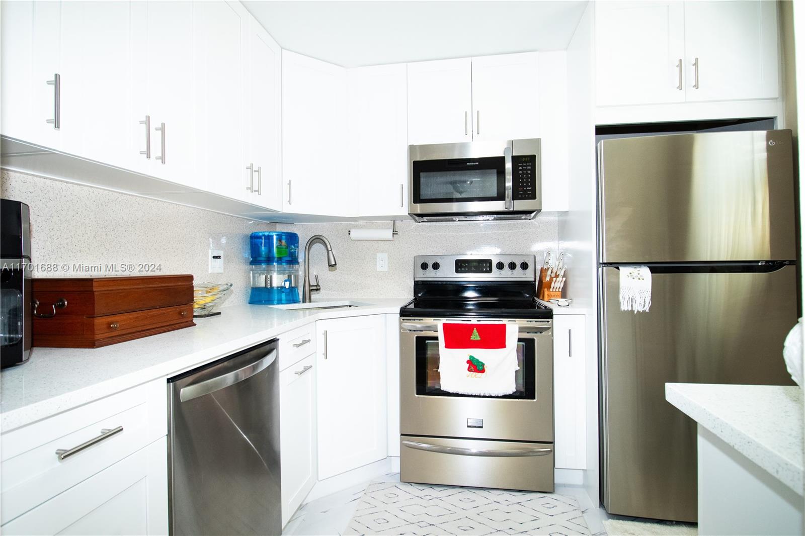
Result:
{"label": "reddish-brown wooden chest with side handle on the counter", "polygon": [[195,326],[193,276],[33,279],[33,345],[98,348]]}

